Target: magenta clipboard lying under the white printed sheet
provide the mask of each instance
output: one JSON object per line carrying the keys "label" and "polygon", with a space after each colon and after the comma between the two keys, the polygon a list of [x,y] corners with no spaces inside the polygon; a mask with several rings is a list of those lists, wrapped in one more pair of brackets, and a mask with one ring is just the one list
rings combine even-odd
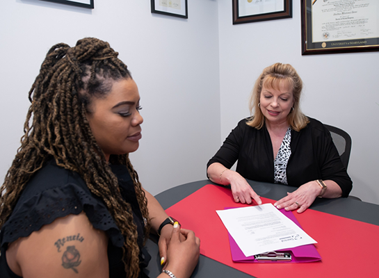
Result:
{"label": "magenta clipboard lying under the white printed sheet", "polygon": [[[229,208],[225,208],[229,209]],[[285,211],[284,208],[280,212],[291,219],[298,227],[301,228],[300,223],[293,215],[292,211]],[[229,236],[230,252],[232,253],[232,260],[236,263],[310,263],[312,261],[321,261],[321,256],[318,254],[316,247],[313,244],[302,245],[298,247],[289,248],[288,250],[277,250],[277,252],[289,252],[292,256],[291,261],[257,261],[254,256],[245,256],[242,250],[237,245],[236,241]]]}

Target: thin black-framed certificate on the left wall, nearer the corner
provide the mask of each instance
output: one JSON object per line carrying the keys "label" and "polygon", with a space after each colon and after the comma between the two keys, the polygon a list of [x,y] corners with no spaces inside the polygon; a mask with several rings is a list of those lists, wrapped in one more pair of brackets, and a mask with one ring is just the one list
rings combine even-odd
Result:
{"label": "thin black-framed certificate on the left wall, nearer the corner", "polygon": [[188,18],[187,0],[151,0],[152,13]]}

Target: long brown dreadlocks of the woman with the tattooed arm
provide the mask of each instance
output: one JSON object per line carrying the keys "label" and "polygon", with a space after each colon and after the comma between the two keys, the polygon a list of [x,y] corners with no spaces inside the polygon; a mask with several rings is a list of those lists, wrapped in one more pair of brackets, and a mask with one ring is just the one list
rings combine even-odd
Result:
{"label": "long brown dreadlocks of the woman with the tattooed arm", "polygon": [[[86,113],[93,97],[104,97],[112,81],[131,78],[108,44],[84,38],[75,47],[56,44],[49,49],[29,91],[21,147],[0,190],[0,229],[13,211],[31,176],[54,158],[56,164],[80,174],[90,191],[101,197],[124,236],[123,261],[127,277],[137,277],[138,234],[131,206],[124,202],[118,179],[92,135]],[[112,163],[126,165],[134,181],[140,210],[148,218],[147,199],[128,154],[112,155]],[[150,230],[148,221],[145,238]]]}

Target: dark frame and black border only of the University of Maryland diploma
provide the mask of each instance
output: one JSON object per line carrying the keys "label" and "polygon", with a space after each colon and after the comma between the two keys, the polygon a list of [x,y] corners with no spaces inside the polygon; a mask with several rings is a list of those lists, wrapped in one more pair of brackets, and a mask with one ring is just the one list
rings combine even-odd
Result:
{"label": "dark frame and black border only of the University of Maryland diploma", "polygon": [[[363,38],[354,40],[325,40],[313,42],[312,4],[322,0],[301,0],[301,37],[302,55],[338,54],[348,52],[379,51],[379,38]],[[378,1],[378,0],[372,0]],[[376,15],[379,19],[379,15]]]}

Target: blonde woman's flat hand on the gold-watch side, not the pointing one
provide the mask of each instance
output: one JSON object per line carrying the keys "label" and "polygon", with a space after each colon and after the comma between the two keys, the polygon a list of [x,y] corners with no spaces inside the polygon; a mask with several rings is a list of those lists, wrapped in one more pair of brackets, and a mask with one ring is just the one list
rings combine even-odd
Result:
{"label": "blonde woman's flat hand on the gold-watch side, not the pointing one", "polygon": [[320,192],[321,188],[318,183],[309,181],[293,191],[293,193],[287,193],[287,196],[277,201],[274,206],[278,209],[284,208],[286,211],[297,209],[298,213],[303,213],[314,202]]}

